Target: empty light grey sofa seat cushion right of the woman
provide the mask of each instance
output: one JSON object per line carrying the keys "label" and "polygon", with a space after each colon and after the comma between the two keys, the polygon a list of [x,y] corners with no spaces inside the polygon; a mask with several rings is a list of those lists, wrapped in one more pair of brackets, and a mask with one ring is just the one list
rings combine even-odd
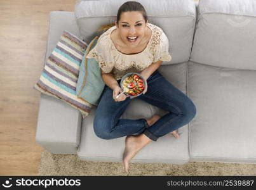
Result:
{"label": "empty light grey sofa seat cushion right of the woman", "polygon": [[256,72],[189,61],[188,96],[197,108],[191,160],[256,162]]}

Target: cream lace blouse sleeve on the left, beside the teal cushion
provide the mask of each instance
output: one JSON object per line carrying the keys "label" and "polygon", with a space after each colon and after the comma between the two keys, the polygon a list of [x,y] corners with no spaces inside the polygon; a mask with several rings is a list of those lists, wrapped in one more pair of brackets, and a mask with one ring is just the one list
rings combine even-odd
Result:
{"label": "cream lace blouse sleeve on the left, beside the teal cushion", "polygon": [[87,54],[86,58],[95,59],[98,62],[98,66],[100,66],[105,73],[110,73],[114,67],[114,63],[112,61],[107,61],[107,50],[102,47],[102,43],[99,41]]}

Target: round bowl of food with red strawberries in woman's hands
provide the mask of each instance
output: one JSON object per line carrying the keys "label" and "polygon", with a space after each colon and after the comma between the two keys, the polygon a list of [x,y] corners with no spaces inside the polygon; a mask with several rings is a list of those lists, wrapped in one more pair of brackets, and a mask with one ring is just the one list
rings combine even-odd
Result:
{"label": "round bowl of food with red strawberries in woman's hands", "polygon": [[137,97],[143,94],[147,81],[139,73],[127,73],[120,82],[124,94],[130,97]]}

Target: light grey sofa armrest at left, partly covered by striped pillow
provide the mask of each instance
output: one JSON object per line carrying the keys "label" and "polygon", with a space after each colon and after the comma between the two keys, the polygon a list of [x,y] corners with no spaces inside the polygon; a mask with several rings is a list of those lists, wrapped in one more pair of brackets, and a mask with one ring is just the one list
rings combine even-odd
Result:
{"label": "light grey sofa armrest at left, partly covered by striped pillow", "polygon": [[[52,11],[44,63],[64,30],[80,37],[74,12]],[[80,111],[60,99],[41,94],[36,142],[51,153],[77,153],[81,137],[81,120]]]}

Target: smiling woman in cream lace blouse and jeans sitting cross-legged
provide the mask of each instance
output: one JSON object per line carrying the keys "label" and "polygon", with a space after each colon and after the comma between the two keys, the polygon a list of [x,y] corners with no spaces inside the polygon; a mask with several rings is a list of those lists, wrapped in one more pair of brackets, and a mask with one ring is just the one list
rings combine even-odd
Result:
{"label": "smiling woman in cream lace blouse and jeans sitting cross-legged", "polygon": [[[179,137],[177,129],[196,115],[191,99],[158,72],[163,61],[172,59],[168,39],[161,28],[148,22],[142,4],[136,1],[124,3],[118,10],[115,25],[100,35],[87,58],[98,61],[106,84],[95,112],[95,134],[102,139],[126,136],[123,154],[126,172],[131,158],[140,149],[170,132]],[[122,92],[121,78],[129,72],[140,73],[147,80],[147,91],[138,98],[169,111],[166,115],[119,119],[131,102],[125,94],[116,98]]]}

